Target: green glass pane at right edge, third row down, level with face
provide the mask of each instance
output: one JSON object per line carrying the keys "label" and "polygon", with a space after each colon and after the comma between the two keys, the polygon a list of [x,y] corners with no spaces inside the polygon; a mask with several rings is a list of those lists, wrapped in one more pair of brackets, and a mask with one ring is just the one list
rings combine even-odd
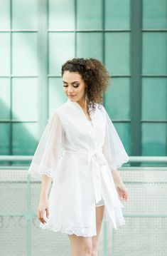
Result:
{"label": "green glass pane at right edge, third row down, level with face", "polygon": [[142,118],[167,119],[167,79],[142,79]]}

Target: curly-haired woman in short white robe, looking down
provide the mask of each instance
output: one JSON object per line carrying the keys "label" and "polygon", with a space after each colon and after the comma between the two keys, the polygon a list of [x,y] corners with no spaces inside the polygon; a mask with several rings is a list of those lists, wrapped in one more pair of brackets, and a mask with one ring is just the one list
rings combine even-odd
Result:
{"label": "curly-haired woman in short white robe, looking down", "polygon": [[40,227],[66,232],[72,255],[97,255],[103,217],[115,229],[125,223],[119,199],[128,192],[117,168],[129,157],[102,106],[109,86],[102,63],[73,58],[62,76],[68,100],[50,117],[28,173],[42,180]]}

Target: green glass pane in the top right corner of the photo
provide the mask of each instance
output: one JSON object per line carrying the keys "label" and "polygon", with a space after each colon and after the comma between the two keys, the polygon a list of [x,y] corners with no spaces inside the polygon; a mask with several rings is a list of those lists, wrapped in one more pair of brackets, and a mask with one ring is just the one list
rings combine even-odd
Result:
{"label": "green glass pane in the top right corner of the photo", "polygon": [[167,28],[167,1],[151,0],[143,1],[143,28],[166,29]]}

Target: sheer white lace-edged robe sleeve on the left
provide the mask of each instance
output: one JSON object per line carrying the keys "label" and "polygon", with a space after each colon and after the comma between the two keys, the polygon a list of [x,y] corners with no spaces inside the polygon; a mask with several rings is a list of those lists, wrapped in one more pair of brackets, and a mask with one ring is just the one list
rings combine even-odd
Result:
{"label": "sheer white lace-edged robe sleeve on the left", "polygon": [[42,175],[45,174],[52,180],[55,178],[60,150],[63,145],[63,136],[63,126],[58,113],[55,111],[45,126],[31,165],[28,168],[28,173],[32,177],[42,180]]}

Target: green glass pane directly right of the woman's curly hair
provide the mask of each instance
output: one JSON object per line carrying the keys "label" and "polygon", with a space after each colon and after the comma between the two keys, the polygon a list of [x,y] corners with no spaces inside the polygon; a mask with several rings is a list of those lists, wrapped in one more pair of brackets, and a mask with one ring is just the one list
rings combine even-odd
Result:
{"label": "green glass pane directly right of the woman's curly hair", "polygon": [[105,93],[105,106],[114,119],[130,118],[130,80],[112,78]]}

